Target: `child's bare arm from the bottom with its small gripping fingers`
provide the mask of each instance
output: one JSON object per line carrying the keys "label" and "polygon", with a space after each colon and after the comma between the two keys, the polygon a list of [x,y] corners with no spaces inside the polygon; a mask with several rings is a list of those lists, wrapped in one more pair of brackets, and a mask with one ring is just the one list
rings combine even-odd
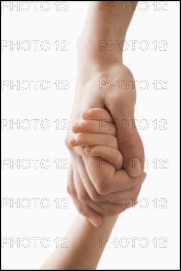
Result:
{"label": "child's bare arm from the bottom with its small gripping fingers", "polygon": [[[111,129],[109,125],[104,126],[104,129],[99,129],[97,126],[99,115],[103,117],[105,121],[112,121],[111,116],[105,109],[94,108],[91,109],[92,117],[90,120],[82,120],[79,123],[79,135],[81,140],[77,145],[79,145],[86,156],[93,157],[95,159],[103,159],[106,163],[105,170],[106,174],[116,174],[119,171],[117,165],[115,165],[115,159],[122,160],[121,152],[118,150],[118,141],[116,137],[116,126],[113,124]],[[82,114],[83,116],[84,114]],[[77,123],[72,126],[72,130],[75,132],[77,130]],[[99,132],[99,136],[97,136]],[[103,136],[104,140],[99,141],[99,138]],[[110,143],[111,136],[111,143]],[[89,146],[87,145],[89,138]],[[107,142],[108,144],[105,144]],[[100,145],[99,145],[100,144]],[[89,151],[88,151],[89,150]],[[112,162],[112,164],[110,164]],[[73,171],[69,171],[71,174]],[[69,179],[73,183],[73,175],[69,175]],[[110,175],[111,178],[111,175]],[[145,175],[144,175],[145,178]],[[140,185],[144,181],[140,179]],[[75,182],[75,187],[72,186],[74,191],[72,191],[73,201],[75,204],[79,204],[78,195],[82,193],[81,182]],[[76,188],[76,190],[75,190]],[[77,191],[77,192],[76,192]],[[68,238],[68,247],[59,247],[51,255],[51,257],[44,263],[41,269],[54,269],[54,270],[94,270],[99,262],[101,254],[106,246],[107,239],[109,238],[111,231],[116,223],[118,215],[124,211],[126,208],[131,207],[137,203],[137,201],[130,201],[129,204],[123,202],[120,205],[121,198],[125,199],[127,195],[130,195],[129,190],[123,193],[117,194],[112,193],[110,195],[109,201],[107,197],[104,197],[102,204],[99,202],[95,203],[95,208],[97,211],[102,209],[102,212],[107,212],[110,210],[110,215],[104,215],[102,223],[99,227],[95,228],[91,225],[90,221],[82,215],[78,215],[72,227],[66,234]],[[133,195],[137,197],[137,194]],[[132,197],[133,197],[132,196]],[[88,197],[88,196],[87,196]],[[110,199],[113,201],[116,197],[119,197],[119,205],[117,203],[110,203]],[[105,203],[107,200],[107,203]],[[119,211],[118,211],[119,209]],[[114,213],[114,215],[113,215]]]}

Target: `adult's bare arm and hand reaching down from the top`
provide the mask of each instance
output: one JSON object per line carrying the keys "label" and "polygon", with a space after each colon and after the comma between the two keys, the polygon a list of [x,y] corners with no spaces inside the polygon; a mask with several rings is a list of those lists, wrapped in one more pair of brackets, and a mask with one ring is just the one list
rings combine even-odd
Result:
{"label": "adult's bare arm and hand reaching down from the top", "polygon": [[[76,144],[72,144],[69,138],[74,136],[75,131],[68,130],[65,138],[65,143],[71,152],[70,170],[73,171],[71,174],[74,176],[73,182],[68,180],[68,192],[73,198],[73,186],[76,187],[75,182],[78,182],[76,179],[82,182],[84,192],[78,197],[76,206],[82,215],[93,221],[95,226],[101,224],[103,214],[92,208],[96,199],[101,195],[110,197],[110,193],[127,190],[130,183],[134,184],[135,190],[139,190],[136,185],[139,176],[142,178],[143,174],[139,161],[144,159],[144,149],[134,127],[136,91],[132,84],[129,84],[126,90],[116,89],[114,86],[110,89],[109,85],[100,88],[100,80],[107,82],[110,80],[113,83],[116,80],[118,82],[134,80],[130,70],[122,63],[121,50],[116,50],[115,47],[109,50],[108,46],[100,50],[102,40],[111,40],[112,43],[124,40],[132,15],[132,6],[126,12],[115,9],[110,11],[109,7],[102,8],[100,11],[99,2],[91,2],[86,24],[78,41],[78,78],[70,125],[81,121],[83,110],[95,107],[107,109],[115,123],[120,123],[121,120],[126,120],[128,123],[127,129],[120,125],[116,127],[118,148],[124,159],[124,169],[118,171],[122,182],[115,187],[110,186],[112,179],[105,174],[105,170],[100,171],[99,161],[86,156],[82,148],[73,148]],[[94,171],[91,172],[91,169]],[[88,183],[92,183],[93,186],[88,186]],[[127,187],[122,187],[122,183],[127,183]]]}

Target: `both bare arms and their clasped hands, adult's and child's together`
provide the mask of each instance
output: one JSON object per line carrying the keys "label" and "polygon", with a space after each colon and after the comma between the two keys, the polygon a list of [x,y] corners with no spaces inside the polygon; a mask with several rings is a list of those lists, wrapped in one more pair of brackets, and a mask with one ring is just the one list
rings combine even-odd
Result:
{"label": "both bare arms and their clasped hands, adult's and child's together", "polygon": [[[111,83],[115,83],[115,80],[133,82],[131,71],[122,63],[122,51],[115,47],[110,49],[109,46],[100,48],[100,42],[106,41],[109,44],[111,41],[113,44],[124,40],[134,8],[132,2],[128,4],[126,11],[109,8],[108,3],[91,2],[86,24],[78,41],[78,78],[70,116],[72,129],[68,130],[65,138],[71,153],[67,190],[83,216],[77,217],[67,234],[68,248],[58,248],[42,269],[95,269],[105,247],[105,244],[100,247],[100,237],[108,238],[118,215],[126,207],[136,204],[136,201],[129,199],[137,198],[146,177],[139,166],[140,160],[144,159],[143,144],[136,128],[133,129],[135,89],[132,84],[126,90],[114,86],[110,88],[108,84],[100,87],[101,80]],[[122,2],[116,3],[120,5]],[[105,8],[100,8],[103,5]],[[92,108],[100,111],[94,114]],[[109,119],[115,124],[126,120],[128,128],[118,125],[115,133],[114,128],[108,131],[104,127],[100,131],[96,124],[77,126],[83,120],[104,119],[102,109],[107,110]],[[88,112],[83,112],[84,110]],[[84,135],[85,133],[90,136]],[[115,152],[110,151],[108,154],[108,148],[115,149]],[[104,157],[107,162],[102,168],[99,164],[100,157]],[[120,160],[123,157],[128,166],[125,163],[123,168],[115,166],[110,162],[115,157]],[[111,208],[108,204],[103,204],[100,208],[102,197],[106,200],[111,198],[113,202],[124,197],[129,204],[125,208],[115,208],[115,203],[111,203]]]}

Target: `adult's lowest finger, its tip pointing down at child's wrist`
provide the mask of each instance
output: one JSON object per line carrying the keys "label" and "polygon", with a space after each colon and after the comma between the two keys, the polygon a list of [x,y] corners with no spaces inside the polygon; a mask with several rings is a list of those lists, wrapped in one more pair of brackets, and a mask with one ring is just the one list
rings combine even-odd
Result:
{"label": "adult's lowest finger, its tip pointing down at child's wrist", "polygon": [[92,208],[89,207],[88,205],[83,204],[79,201],[76,190],[75,190],[75,186],[74,186],[74,179],[73,179],[74,176],[75,178],[77,177],[76,171],[71,169],[70,174],[68,176],[68,186],[67,186],[68,193],[72,197],[72,200],[77,210],[79,211],[79,213],[87,217],[90,220],[90,222],[93,224],[93,226],[98,227],[102,223],[102,216],[101,214],[92,210]]}

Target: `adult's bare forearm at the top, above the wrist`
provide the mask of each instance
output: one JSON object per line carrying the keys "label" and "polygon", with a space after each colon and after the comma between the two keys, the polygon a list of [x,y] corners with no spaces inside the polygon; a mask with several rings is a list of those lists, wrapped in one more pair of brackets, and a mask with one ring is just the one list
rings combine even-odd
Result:
{"label": "adult's bare forearm at the top, above the wrist", "polygon": [[[78,64],[89,58],[92,62],[122,61],[117,48],[124,38],[137,1],[93,1],[90,3],[83,32],[78,42]],[[116,46],[114,46],[116,45]],[[123,44],[122,44],[123,46]]]}

